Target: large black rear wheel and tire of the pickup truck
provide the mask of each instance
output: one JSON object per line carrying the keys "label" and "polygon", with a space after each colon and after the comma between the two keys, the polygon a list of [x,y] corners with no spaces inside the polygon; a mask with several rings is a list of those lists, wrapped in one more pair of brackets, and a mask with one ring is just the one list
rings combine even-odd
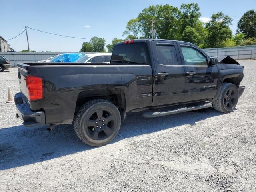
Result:
{"label": "large black rear wheel and tire of the pickup truck", "polygon": [[112,141],[121,126],[118,108],[103,99],[90,100],[74,118],[77,136],[90,146],[102,146]]}

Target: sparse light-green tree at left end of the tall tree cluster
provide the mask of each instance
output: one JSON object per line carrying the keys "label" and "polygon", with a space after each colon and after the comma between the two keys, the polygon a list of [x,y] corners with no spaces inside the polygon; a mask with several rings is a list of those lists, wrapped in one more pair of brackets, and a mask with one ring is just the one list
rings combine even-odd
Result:
{"label": "sparse light-green tree at left end of the tall tree cluster", "polygon": [[126,25],[126,30],[123,32],[123,36],[132,34],[135,38],[138,39],[141,33],[141,23],[138,18],[130,19]]}

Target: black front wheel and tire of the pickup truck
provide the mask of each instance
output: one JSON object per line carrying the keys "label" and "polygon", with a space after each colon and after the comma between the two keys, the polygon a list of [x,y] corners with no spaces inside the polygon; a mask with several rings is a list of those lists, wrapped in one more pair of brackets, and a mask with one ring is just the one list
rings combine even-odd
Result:
{"label": "black front wheel and tire of the pickup truck", "polygon": [[214,109],[222,112],[229,113],[236,108],[238,102],[238,89],[232,83],[223,83],[220,95],[212,102]]}

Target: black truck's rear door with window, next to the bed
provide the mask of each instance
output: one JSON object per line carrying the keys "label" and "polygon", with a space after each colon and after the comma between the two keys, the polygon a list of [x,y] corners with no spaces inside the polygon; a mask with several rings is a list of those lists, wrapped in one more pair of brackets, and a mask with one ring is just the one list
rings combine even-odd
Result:
{"label": "black truck's rear door with window, next to the bed", "polygon": [[156,104],[181,103],[185,90],[185,71],[176,42],[152,42],[156,71]]}

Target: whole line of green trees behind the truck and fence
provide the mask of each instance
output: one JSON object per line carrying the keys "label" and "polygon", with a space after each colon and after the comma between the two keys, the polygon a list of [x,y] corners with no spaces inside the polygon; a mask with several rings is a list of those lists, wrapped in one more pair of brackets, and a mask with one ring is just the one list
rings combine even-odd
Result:
{"label": "whole line of green trees behind the truck and fence", "polygon": [[[256,11],[249,10],[238,20],[236,34],[230,25],[233,19],[223,12],[213,13],[206,23],[200,21],[197,3],[172,5],[150,5],[137,18],[130,19],[123,32],[125,39],[152,38],[152,26],[156,30],[153,38],[181,40],[196,44],[200,48],[232,47],[256,44]],[[124,39],[114,38],[106,45],[112,52],[116,43]],[[93,37],[82,44],[81,52],[106,52],[105,39]]]}

